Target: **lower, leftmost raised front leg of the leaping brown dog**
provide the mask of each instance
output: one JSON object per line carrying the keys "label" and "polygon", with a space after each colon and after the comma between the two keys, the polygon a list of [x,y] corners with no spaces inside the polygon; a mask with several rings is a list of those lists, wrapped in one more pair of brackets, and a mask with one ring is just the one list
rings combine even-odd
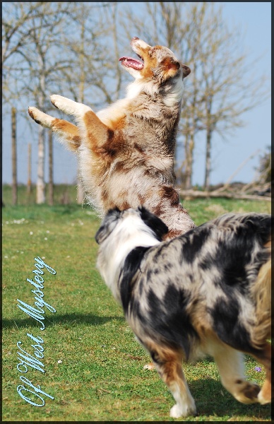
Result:
{"label": "lower, leftmost raised front leg of the leaping brown dog", "polygon": [[41,112],[37,107],[29,107],[28,113],[37,124],[51,129],[61,142],[65,141],[70,150],[77,151],[81,145],[81,136],[76,125],[64,119],[51,117],[49,114]]}

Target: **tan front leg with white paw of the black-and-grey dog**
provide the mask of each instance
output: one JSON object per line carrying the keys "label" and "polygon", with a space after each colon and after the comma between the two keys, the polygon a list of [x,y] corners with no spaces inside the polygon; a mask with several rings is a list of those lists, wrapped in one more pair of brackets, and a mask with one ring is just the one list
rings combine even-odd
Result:
{"label": "tan front leg with white paw of the black-and-grey dog", "polygon": [[[148,350],[155,368],[177,402],[170,409],[170,416],[179,418],[196,415],[195,402],[181,366],[182,353],[168,347],[158,346],[155,343],[149,343],[149,345]],[[148,344],[146,344],[146,348],[148,348]]]}

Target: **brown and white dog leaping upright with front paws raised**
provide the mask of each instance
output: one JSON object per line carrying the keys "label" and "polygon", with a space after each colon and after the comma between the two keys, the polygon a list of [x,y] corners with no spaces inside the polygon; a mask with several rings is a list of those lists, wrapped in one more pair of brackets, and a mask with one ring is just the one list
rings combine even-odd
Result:
{"label": "brown and white dog leaping upright with front paws raised", "polygon": [[167,224],[167,238],[195,225],[174,189],[174,148],[183,79],[190,69],[167,47],[151,47],[133,37],[141,58],[121,57],[135,78],[126,98],[97,114],[81,103],[52,95],[54,106],[76,117],[78,126],[29,107],[30,117],[76,151],[88,200],[104,215],[142,204]]}

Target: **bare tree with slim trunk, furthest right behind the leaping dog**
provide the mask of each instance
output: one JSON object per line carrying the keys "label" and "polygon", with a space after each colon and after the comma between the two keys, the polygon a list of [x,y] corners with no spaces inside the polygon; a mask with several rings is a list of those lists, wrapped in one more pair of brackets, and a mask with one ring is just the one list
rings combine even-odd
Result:
{"label": "bare tree with slim trunk, furthest right behind the leaping dog", "polygon": [[255,61],[248,61],[243,45],[241,31],[227,28],[222,6],[208,5],[198,76],[203,92],[199,127],[205,130],[206,137],[205,189],[210,186],[213,134],[225,139],[234,129],[244,126],[244,112],[269,96],[266,76],[258,78],[251,73]]}

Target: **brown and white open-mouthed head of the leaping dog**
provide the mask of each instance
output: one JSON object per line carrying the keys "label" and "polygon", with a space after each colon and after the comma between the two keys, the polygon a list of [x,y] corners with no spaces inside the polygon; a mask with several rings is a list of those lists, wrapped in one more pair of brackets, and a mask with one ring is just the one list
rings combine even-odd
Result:
{"label": "brown and white open-mouthed head of the leaping dog", "polygon": [[131,47],[141,60],[132,57],[121,57],[119,60],[136,79],[150,78],[165,83],[176,76],[184,79],[191,72],[167,47],[152,47],[138,37],[133,37]]}

